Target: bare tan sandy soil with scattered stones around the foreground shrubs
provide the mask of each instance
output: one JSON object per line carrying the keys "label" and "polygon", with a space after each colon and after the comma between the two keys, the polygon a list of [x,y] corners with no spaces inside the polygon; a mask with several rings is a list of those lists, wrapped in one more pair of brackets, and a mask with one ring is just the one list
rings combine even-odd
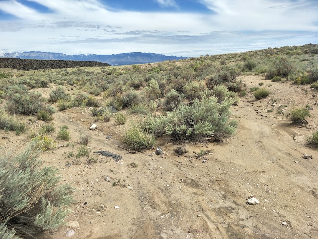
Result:
{"label": "bare tan sandy soil with scattered stones around the foreground shrubs", "polygon": [[[242,78],[248,87],[271,83],[262,76]],[[180,157],[174,153],[180,145],[169,143],[169,137],[159,138],[158,146],[166,152],[162,157],[155,150],[128,153],[121,144],[126,126],[112,119],[98,121],[98,128],[89,131],[93,119],[88,108],[54,114],[57,127],[69,127],[71,145],[60,141],[42,159],[59,168],[62,182],[76,189],[77,202],[66,222],[78,221],[79,227],[61,226],[43,238],[65,238],[68,229],[75,231],[72,238],[85,239],[318,238],[318,153],[306,145],[306,136],[318,127],[318,100],[313,96],[318,94],[308,85],[271,84],[268,98],[255,100],[248,93],[232,107],[233,118],[240,121],[237,135],[222,143],[186,143],[189,155]],[[288,111],[305,105],[314,108],[309,124],[292,125]],[[279,107],[285,110],[282,114]],[[100,156],[99,162],[86,164],[86,158],[67,158],[69,152],[76,153],[79,135],[88,131],[92,151],[110,151],[123,160]],[[113,137],[108,140],[107,135]],[[8,134],[0,130],[2,136]],[[5,150],[20,150],[29,141],[26,134],[10,132],[9,137],[0,139]],[[205,163],[194,153],[200,149],[212,150]],[[305,153],[313,159],[303,159]],[[252,196],[259,205],[246,204]]]}

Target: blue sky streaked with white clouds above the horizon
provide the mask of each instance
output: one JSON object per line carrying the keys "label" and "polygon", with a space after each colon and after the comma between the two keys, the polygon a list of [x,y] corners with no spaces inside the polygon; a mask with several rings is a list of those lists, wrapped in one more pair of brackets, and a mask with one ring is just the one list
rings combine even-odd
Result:
{"label": "blue sky streaked with white clouds above the horizon", "polygon": [[1,52],[199,56],[318,43],[317,0],[0,0]]}

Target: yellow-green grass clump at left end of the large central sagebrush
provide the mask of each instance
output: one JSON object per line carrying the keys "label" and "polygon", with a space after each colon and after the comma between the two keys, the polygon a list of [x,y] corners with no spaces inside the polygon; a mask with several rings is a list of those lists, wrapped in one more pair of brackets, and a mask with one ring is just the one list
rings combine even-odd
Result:
{"label": "yellow-green grass clump at left end of the large central sagebrush", "polygon": [[156,137],[147,132],[144,120],[138,120],[131,122],[124,134],[123,142],[132,149],[150,149],[156,144]]}

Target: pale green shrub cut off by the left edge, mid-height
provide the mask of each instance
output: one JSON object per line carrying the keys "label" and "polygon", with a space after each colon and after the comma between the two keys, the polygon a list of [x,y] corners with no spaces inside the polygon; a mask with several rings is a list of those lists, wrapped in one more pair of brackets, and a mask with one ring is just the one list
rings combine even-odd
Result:
{"label": "pale green shrub cut off by the left edge, mid-height", "polygon": [[0,129],[15,131],[17,135],[26,131],[25,123],[16,116],[9,115],[0,108]]}

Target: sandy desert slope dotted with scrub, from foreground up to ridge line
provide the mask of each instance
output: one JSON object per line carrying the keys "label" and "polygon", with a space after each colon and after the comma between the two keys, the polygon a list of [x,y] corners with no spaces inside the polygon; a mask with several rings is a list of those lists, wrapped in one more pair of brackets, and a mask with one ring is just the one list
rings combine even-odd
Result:
{"label": "sandy desert slope dotted with scrub, from foreground up to ridge line", "polygon": [[[10,207],[10,190],[3,189],[1,215],[9,219],[0,232],[15,228],[23,238],[47,239],[318,238],[316,49],[0,69],[1,178],[12,175],[6,162],[30,147],[40,150],[39,170],[57,169],[45,178],[60,177],[54,184],[34,176],[28,192],[26,184],[3,180],[1,188],[20,190],[34,205]],[[12,165],[22,172],[39,164],[20,155],[17,162],[27,160]],[[50,215],[42,199],[33,200],[36,193],[51,202]],[[56,216],[58,208],[71,212]],[[34,222],[38,214],[43,220]]]}

